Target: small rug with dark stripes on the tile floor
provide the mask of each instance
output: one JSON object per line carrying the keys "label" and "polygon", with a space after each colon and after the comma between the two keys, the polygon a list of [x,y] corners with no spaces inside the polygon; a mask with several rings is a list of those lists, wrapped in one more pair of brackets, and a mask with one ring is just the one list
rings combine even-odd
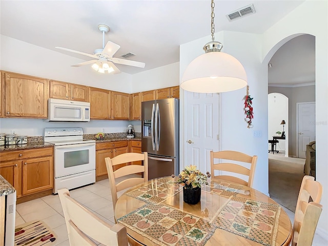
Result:
{"label": "small rug with dark stripes on the tile floor", "polygon": [[56,235],[41,220],[29,221],[15,227],[15,246],[48,246],[54,243]]}

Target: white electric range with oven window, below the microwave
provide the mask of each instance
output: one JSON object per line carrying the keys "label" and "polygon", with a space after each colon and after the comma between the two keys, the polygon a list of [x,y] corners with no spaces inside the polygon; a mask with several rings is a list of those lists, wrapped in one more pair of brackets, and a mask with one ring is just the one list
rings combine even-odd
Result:
{"label": "white electric range with oven window, below the microwave", "polygon": [[54,194],[96,181],[96,141],[82,128],[45,128],[44,141],[54,145]]}

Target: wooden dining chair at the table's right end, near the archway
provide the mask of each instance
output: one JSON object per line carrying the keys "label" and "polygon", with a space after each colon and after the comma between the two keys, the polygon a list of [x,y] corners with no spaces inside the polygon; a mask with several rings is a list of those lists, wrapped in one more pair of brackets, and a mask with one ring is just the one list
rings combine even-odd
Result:
{"label": "wooden dining chair at the table's right end, near the archway", "polygon": [[322,211],[322,206],[319,204],[321,195],[321,183],[315,181],[314,177],[305,175],[296,204],[292,246],[312,245]]}

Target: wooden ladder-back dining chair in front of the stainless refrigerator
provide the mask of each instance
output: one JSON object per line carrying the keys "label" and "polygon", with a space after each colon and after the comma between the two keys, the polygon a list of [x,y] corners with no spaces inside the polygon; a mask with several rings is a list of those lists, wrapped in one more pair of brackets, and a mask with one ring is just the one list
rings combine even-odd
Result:
{"label": "wooden ladder-back dining chair in front of the stainless refrigerator", "polygon": [[[116,165],[120,165],[122,163],[141,161],[144,165],[128,165],[125,167],[121,167],[116,171],[113,171],[113,167]],[[113,208],[115,210],[115,204],[117,202],[117,192],[121,190],[125,190],[127,188],[133,187],[138,183],[148,181],[148,153],[144,152],[140,153],[124,153],[113,158],[106,157],[105,158],[109,185],[111,187],[112,200],[113,200]],[[142,174],[140,177],[127,177],[126,179],[115,183],[115,180],[120,177],[124,177],[130,174]]]}

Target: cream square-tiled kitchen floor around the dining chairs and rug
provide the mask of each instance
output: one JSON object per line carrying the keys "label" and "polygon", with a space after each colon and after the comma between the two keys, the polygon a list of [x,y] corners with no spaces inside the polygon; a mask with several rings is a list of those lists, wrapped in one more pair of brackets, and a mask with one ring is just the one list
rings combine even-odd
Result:
{"label": "cream square-tiled kitchen floor around the dining chairs and rug", "polygon": [[[121,195],[124,191],[118,193]],[[92,213],[109,224],[114,224],[112,197],[108,179],[101,180],[93,185],[70,191],[70,195],[86,206]],[[294,221],[294,213],[284,209]],[[16,226],[27,221],[43,220],[56,234],[54,245],[69,246],[63,210],[58,195],[49,195],[32,201],[17,204]],[[313,245],[328,245],[328,241],[316,234]]]}

